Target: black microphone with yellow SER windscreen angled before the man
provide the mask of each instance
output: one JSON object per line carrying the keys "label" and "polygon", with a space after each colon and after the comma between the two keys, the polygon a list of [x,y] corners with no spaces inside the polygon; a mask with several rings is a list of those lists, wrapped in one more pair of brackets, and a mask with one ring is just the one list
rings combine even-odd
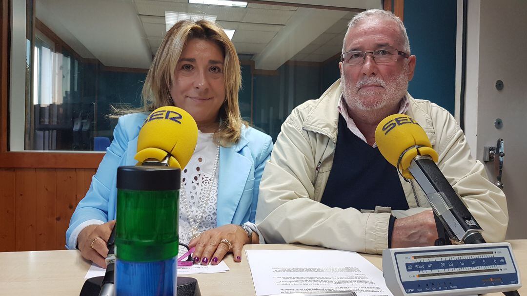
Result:
{"label": "black microphone with yellow SER windscreen angled before the man", "polygon": [[[380,121],[375,130],[380,153],[405,180],[415,179],[423,189],[447,235],[465,244],[485,243],[483,230],[435,164],[437,152],[417,121],[405,114],[393,114]],[[441,233],[438,229],[441,238]],[[450,242],[450,241],[449,241]]]}

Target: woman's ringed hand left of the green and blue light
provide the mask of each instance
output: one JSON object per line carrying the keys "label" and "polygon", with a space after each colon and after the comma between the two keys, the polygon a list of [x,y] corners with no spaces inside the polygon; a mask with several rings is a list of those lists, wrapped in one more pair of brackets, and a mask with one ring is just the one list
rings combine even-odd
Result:
{"label": "woman's ringed hand left of the green and blue light", "polygon": [[91,260],[95,264],[106,268],[106,262],[104,261],[106,256],[108,256],[106,242],[108,242],[114,226],[115,220],[101,225],[88,225],[84,227],[77,237],[77,245],[79,246],[81,255],[85,259]]}

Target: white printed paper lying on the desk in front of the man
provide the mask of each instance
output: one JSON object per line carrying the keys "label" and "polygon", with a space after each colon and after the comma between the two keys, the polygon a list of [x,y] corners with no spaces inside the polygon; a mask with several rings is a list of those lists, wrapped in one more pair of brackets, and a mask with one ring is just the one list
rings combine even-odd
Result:
{"label": "white printed paper lying on the desk in front of the man", "polygon": [[336,250],[246,250],[257,296],[353,291],[393,296],[383,272],[355,252]]}

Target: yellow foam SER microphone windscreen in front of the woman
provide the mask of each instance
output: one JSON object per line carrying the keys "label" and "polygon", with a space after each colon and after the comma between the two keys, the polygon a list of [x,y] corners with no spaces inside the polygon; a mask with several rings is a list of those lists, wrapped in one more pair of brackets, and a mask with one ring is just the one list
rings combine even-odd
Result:
{"label": "yellow foam SER microphone windscreen in front of the woman", "polygon": [[190,114],[177,107],[155,109],[144,120],[137,140],[135,160],[141,165],[147,159],[161,161],[171,155],[170,167],[184,168],[198,141],[198,126]]}

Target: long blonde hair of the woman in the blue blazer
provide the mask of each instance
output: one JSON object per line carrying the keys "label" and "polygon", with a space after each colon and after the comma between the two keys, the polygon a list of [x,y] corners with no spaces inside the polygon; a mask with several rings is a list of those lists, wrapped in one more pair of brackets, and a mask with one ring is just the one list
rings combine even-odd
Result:
{"label": "long blonde hair of the woman in the blue blazer", "polygon": [[115,116],[132,112],[151,112],[159,107],[173,106],[170,88],[174,81],[174,69],[180,59],[183,47],[191,39],[210,40],[222,50],[223,77],[226,100],[219,111],[219,129],[214,133],[214,141],[223,147],[235,144],[240,139],[242,125],[238,106],[238,91],[241,87],[240,61],[234,44],[223,28],[205,20],[180,21],[175,23],[165,35],[157,54],[155,54],[142,91],[143,107],[140,109],[114,109]]}

